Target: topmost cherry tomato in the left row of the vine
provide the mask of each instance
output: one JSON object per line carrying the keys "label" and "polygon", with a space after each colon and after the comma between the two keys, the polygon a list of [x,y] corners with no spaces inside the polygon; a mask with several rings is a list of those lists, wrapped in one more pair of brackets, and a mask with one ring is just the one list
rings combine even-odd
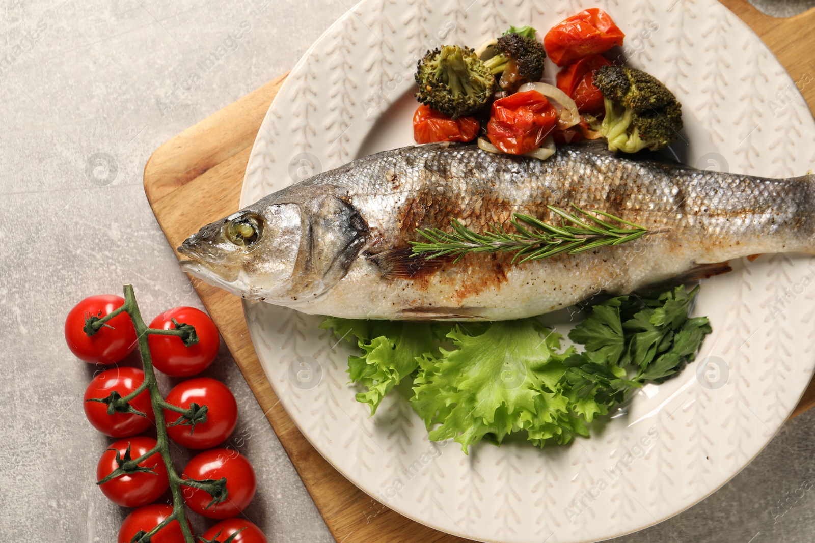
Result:
{"label": "topmost cherry tomato in the left row of the vine", "polygon": [[126,357],[136,346],[136,331],[130,315],[120,313],[110,319],[90,337],[82,330],[86,317],[104,317],[125,304],[125,299],[112,294],[89,296],[78,304],[65,318],[65,341],[68,348],[89,364],[115,364]]}

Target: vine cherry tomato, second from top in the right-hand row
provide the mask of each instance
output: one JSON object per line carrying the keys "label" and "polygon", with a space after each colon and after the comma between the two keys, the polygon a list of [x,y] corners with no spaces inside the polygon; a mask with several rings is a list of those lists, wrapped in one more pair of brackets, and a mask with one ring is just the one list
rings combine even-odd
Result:
{"label": "vine cherry tomato, second from top in the right-hand row", "polygon": [[211,449],[227,440],[238,423],[238,404],[227,386],[209,377],[187,379],[178,383],[167,402],[189,409],[190,404],[206,405],[206,422],[197,423],[190,432],[190,426],[178,424],[170,426],[181,415],[170,409],[164,410],[167,434],[173,440],[190,449]]}

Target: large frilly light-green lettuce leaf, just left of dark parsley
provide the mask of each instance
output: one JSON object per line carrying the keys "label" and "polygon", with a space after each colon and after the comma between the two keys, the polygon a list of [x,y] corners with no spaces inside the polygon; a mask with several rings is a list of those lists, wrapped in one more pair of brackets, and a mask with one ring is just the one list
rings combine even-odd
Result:
{"label": "large frilly light-green lettuce leaf, just left of dark parsley", "polygon": [[563,361],[574,349],[557,353],[561,336],[535,319],[493,322],[479,335],[455,327],[447,338],[456,349],[424,357],[413,381],[413,408],[431,440],[456,440],[465,453],[482,439],[500,444],[517,431],[538,446],[563,444],[588,435],[570,404],[579,402],[590,416],[603,412],[589,399],[564,395]]}

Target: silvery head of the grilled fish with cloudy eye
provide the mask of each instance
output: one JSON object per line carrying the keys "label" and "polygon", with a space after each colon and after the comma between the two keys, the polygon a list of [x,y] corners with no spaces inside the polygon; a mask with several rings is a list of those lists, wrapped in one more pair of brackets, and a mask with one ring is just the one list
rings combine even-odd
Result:
{"label": "silvery head of the grilled fish with cloudy eye", "polygon": [[[273,195],[274,196],[274,195]],[[248,300],[302,304],[345,276],[368,233],[333,196],[261,200],[184,240],[188,274]]]}

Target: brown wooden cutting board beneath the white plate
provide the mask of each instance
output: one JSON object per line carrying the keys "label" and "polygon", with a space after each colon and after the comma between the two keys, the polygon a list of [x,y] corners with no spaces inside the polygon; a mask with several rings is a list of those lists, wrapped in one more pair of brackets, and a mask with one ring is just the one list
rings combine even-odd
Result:
{"label": "brown wooden cutting board beneath the white plate", "polygon": [[[815,64],[808,60],[815,50],[815,9],[781,20],[762,14],[746,0],[723,3],[756,31],[795,81],[809,81],[802,91],[815,111]],[[171,247],[238,209],[255,134],[285,77],[184,130],[150,157],[144,168],[144,191]],[[192,284],[338,543],[466,541],[395,513],[330,466],[294,426],[263,374],[240,298],[195,278]],[[792,416],[813,405],[815,386],[810,383]]]}

